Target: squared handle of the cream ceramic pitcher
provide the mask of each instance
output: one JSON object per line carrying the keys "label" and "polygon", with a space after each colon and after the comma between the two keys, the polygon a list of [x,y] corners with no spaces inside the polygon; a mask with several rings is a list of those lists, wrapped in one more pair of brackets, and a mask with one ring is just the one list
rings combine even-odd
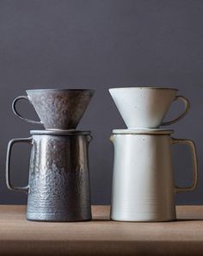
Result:
{"label": "squared handle of the cream ceramic pitcher", "polygon": [[173,144],[184,144],[188,145],[192,152],[192,159],[193,159],[193,184],[189,187],[181,188],[175,186],[175,192],[184,192],[184,191],[193,191],[197,187],[198,182],[198,159],[197,159],[197,151],[193,140],[182,140],[182,139],[172,139]]}

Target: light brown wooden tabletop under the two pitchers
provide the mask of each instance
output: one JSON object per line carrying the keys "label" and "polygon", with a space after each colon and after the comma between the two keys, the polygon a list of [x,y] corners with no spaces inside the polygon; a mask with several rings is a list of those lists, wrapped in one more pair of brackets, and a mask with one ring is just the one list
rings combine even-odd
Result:
{"label": "light brown wooden tabletop under the two pitchers", "polygon": [[0,206],[0,255],[203,255],[203,206],[178,206],[177,222],[28,222],[25,206]]}

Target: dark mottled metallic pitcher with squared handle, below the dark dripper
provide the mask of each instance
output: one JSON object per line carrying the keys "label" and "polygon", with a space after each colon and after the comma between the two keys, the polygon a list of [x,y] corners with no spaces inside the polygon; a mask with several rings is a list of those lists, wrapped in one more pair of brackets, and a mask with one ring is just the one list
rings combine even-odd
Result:
{"label": "dark mottled metallic pitcher with squared handle, below the dark dripper", "polygon": [[[27,219],[44,222],[91,220],[89,132],[31,131],[32,137],[9,141],[6,182],[9,190],[28,193]],[[10,184],[10,156],[15,143],[32,146],[27,187]]]}

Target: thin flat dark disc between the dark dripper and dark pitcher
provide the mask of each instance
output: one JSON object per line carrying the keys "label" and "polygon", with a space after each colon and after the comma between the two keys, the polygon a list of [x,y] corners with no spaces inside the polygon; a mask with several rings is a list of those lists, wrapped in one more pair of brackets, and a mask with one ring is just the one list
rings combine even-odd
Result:
{"label": "thin flat dark disc between the dark dripper and dark pitcher", "polygon": [[90,131],[70,130],[31,130],[31,135],[89,135]]}

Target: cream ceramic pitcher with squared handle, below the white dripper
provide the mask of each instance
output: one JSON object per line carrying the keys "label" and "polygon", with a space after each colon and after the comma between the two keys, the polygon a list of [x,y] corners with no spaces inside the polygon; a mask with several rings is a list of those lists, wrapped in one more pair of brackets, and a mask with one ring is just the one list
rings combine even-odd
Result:
{"label": "cream ceramic pitcher with squared handle, below the white dripper", "polygon": [[[198,180],[194,142],[171,137],[171,130],[114,130],[111,219],[126,222],[174,221],[175,193],[192,191]],[[193,184],[175,186],[172,146],[185,144],[193,157]]]}

